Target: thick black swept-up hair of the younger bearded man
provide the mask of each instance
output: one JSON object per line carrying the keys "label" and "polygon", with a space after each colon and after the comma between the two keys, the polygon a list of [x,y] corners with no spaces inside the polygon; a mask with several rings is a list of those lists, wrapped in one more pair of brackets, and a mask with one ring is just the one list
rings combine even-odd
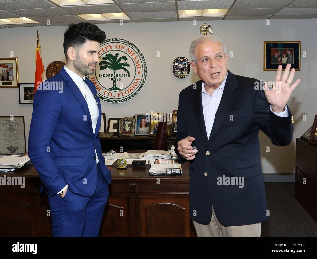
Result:
{"label": "thick black swept-up hair of the younger bearded man", "polygon": [[64,33],[64,54],[68,59],[67,50],[69,47],[77,47],[84,44],[87,40],[97,41],[99,43],[106,39],[104,31],[100,30],[97,25],[92,23],[70,23]]}

